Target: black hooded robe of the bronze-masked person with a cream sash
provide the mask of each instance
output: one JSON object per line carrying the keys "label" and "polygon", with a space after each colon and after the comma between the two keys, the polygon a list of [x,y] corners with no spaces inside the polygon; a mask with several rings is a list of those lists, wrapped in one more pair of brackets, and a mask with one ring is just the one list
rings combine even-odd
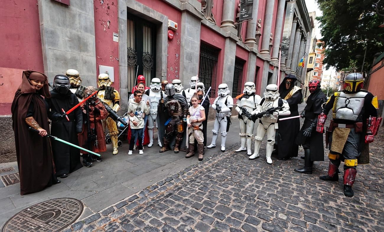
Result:
{"label": "black hooded robe of the bronze-masked person with a cream sash", "polygon": [[[293,79],[293,83],[290,88],[287,90],[285,88],[285,79],[281,82],[279,87],[279,93],[281,99],[285,99],[286,95],[292,90],[294,87],[294,83],[297,80],[293,75],[289,75],[289,78]],[[298,116],[298,104],[301,103],[303,95],[301,94],[301,89],[296,91],[290,98],[286,99],[290,106],[291,114],[287,116],[279,116],[280,118],[288,118],[291,116]],[[295,139],[300,131],[300,119],[288,119],[284,121],[278,121],[279,129],[278,135],[276,136],[276,144],[278,149],[277,158],[290,158],[297,157],[299,152],[299,146],[295,143]]]}

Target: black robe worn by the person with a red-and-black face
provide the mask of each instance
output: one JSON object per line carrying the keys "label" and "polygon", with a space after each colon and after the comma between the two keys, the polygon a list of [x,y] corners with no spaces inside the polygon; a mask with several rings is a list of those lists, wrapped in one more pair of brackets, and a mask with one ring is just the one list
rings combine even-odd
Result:
{"label": "black robe worn by the person with a red-and-black face", "polygon": [[296,137],[296,144],[303,146],[304,149],[310,149],[311,161],[324,161],[324,139],[323,134],[318,133],[315,130],[312,131],[310,137],[303,136],[303,131],[307,129],[316,119],[323,108],[321,105],[327,101],[327,97],[318,88],[316,91],[311,93],[308,97],[307,105],[305,106],[305,119],[301,130]]}

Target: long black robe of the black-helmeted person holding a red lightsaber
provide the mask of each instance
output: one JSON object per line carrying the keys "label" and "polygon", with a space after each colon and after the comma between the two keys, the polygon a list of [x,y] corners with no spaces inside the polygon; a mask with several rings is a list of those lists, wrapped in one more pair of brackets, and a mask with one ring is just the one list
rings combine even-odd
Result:
{"label": "long black robe of the black-helmeted person holding a red lightsaber", "polygon": [[[79,145],[77,133],[82,131],[83,113],[79,106],[70,114],[67,121],[66,118],[58,121],[58,115],[61,109],[68,111],[79,103],[76,95],[68,91],[66,95],[62,95],[55,90],[50,91],[51,98],[46,98],[46,102],[51,110],[49,118],[52,121],[51,135],[63,139],[75,145]],[[76,147],[64,144],[62,142],[52,141],[52,153],[55,159],[56,175],[68,174],[83,167],[80,162],[80,151]]]}

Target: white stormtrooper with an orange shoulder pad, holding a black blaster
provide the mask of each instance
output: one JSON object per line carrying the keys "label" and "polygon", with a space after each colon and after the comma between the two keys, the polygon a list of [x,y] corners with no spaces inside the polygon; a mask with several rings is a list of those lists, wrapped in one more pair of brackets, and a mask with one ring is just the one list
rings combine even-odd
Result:
{"label": "white stormtrooper with an orange shoulder pad, holding a black blaster", "polygon": [[[260,96],[255,94],[256,87],[253,82],[245,82],[243,94],[239,95],[237,98],[237,107],[236,111],[239,113],[240,119],[240,141],[241,147],[236,152],[247,151],[247,155],[252,155],[252,136],[253,136],[253,127],[255,122],[249,119],[246,115],[250,114],[256,109],[256,106],[260,103]],[[241,108],[240,108],[241,107]],[[242,109],[247,110],[243,112]]]}

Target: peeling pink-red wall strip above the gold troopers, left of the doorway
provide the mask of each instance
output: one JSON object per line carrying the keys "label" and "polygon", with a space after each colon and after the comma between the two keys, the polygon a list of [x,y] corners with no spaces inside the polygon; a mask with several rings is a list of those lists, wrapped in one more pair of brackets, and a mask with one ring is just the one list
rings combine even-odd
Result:
{"label": "peeling pink-red wall strip above the gold troopers, left of the doorway", "polygon": [[[118,3],[116,0],[94,0],[96,74],[99,65],[111,66],[114,70],[113,87],[119,89],[119,43],[113,41],[113,33],[119,33]],[[97,77],[96,77],[97,78]]]}

